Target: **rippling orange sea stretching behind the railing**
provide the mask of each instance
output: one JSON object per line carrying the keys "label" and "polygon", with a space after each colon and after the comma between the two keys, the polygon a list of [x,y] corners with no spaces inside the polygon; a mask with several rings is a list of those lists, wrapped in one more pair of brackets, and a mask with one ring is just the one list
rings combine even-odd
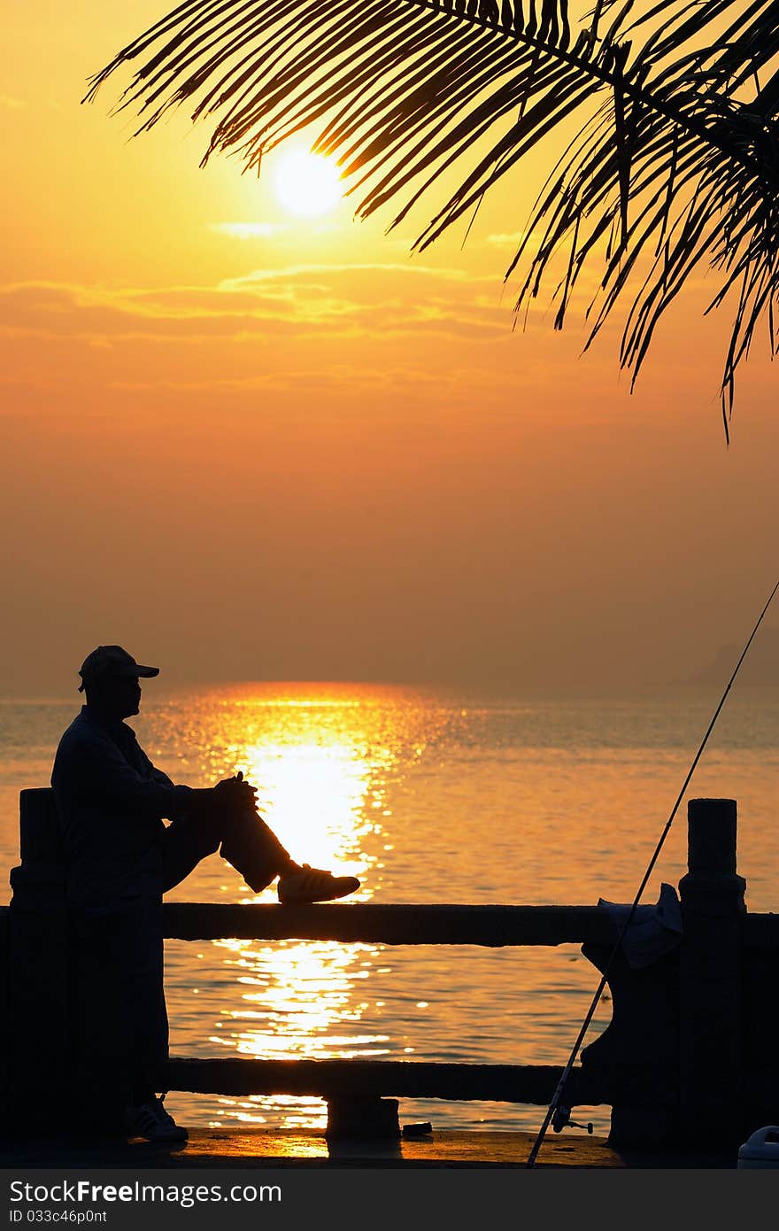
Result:
{"label": "rippling orange sea stretching behind the railing", "polygon": [[[465,688],[240,683],[162,691],[146,683],[130,720],[175,782],[241,771],[294,858],[359,878],[362,902],[631,902],[685,872],[687,801],[738,808],[747,907],[779,907],[779,693],[733,686],[687,790],[719,703],[703,688],[630,698],[528,699]],[[0,904],[18,863],[18,792],[49,784],[79,698],[0,699]],[[679,800],[677,806],[677,800]],[[169,901],[276,901],[218,854]],[[599,975],[576,944],[556,948],[167,940],[165,987],[176,1056],[377,1059],[564,1065]],[[47,977],[41,954],[41,979]],[[608,1025],[608,991],[585,1044]],[[190,1126],[324,1128],[316,1098],[171,1091]],[[401,1124],[535,1131],[545,1108],[401,1099]],[[609,1108],[577,1108],[608,1131]]]}

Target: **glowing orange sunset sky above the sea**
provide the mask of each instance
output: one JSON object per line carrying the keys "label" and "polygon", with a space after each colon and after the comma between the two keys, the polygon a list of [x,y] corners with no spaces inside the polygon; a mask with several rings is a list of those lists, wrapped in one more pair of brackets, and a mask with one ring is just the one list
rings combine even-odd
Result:
{"label": "glowing orange sunset sky above the sea", "polygon": [[764,356],[726,449],[698,288],[633,396],[615,330],[580,356],[583,299],[512,332],[540,160],[411,256],[426,211],[297,219],[277,155],[199,170],[183,114],[128,140],[113,87],[80,98],[164,10],[6,16],[0,692],[68,696],[101,641],[172,682],[587,693],[746,639],[779,574]]}

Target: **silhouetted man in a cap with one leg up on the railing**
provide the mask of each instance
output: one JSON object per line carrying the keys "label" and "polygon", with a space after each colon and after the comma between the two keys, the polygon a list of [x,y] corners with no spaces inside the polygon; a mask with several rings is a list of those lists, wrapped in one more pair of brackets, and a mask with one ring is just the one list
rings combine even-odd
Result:
{"label": "silhouetted man in a cap with one leg up on the railing", "polygon": [[[281,902],[331,901],[359,881],[295,863],[257,815],[257,790],[241,774],[193,789],[155,768],[123,719],[139,710],[139,680],[159,667],[98,645],[79,675],[86,704],[59,741],[52,772],[68,874],[79,1093],[84,1102],[119,1088],[128,1135],[182,1141],[186,1129],[153,1088],[167,1059],[162,894],[219,847],[255,892],[278,876]],[[95,1112],[96,1126],[100,1119]]]}

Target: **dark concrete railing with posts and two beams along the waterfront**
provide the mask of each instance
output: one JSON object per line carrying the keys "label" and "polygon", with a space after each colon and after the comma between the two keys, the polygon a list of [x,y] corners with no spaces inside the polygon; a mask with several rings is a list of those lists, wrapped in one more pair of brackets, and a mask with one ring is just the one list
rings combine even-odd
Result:
{"label": "dark concrete railing with posts and two beams along the waterfront", "polygon": [[[17,1104],[23,1092],[27,1105],[55,1115],[66,1097],[71,1048],[65,867],[50,790],[21,792],[20,831],[11,905],[0,908],[1,1082],[6,1104]],[[164,932],[185,940],[581,944],[598,970],[609,964],[613,1017],[573,1066],[570,1105],[610,1105],[613,1144],[694,1147],[701,1135],[709,1144],[732,1144],[773,1123],[779,1108],[779,916],[746,911],[735,800],[690,800],[688,869],[679,883],[681,943],[640,969],[623,952],[614,955],[618,931],[597,906],[176,902],[164,906]],[[567,1046],[561,1038],[561,1055]],[[171,1059],[159,1088],[321,1097],[329,1123],[353,1128],[356,1118],[364,1125],[396,1124],[396,1114],[388,1121],[379,1105],[385,1096],[548,1105],[561,1071],[522,1064]]]}

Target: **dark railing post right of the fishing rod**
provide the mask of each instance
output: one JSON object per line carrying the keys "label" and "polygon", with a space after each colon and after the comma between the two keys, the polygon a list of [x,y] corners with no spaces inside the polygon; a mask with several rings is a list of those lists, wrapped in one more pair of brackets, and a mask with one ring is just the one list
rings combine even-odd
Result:
{"label": "dark railing post right of the fishing rod", "polygon": [[690,1149],[742,1131],[742,921],[736,800],[690,799],[679,881],[679,1133]]}

